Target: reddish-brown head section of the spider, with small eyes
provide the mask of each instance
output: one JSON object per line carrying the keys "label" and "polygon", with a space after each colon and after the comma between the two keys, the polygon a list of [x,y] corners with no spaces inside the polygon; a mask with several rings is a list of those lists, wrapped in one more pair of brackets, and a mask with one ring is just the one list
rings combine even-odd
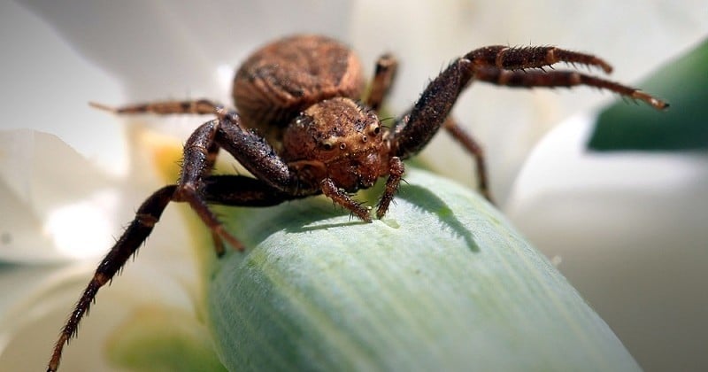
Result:
{"label": "reddish-brown head section of the spider, with small eyes", "polygon": [[331,178],[344,190],[372,186],[388,172],[388,156],[378,116],[350,98],[310,106],[283,136],[284,159],[298,168],[306,165],[312,178]]}

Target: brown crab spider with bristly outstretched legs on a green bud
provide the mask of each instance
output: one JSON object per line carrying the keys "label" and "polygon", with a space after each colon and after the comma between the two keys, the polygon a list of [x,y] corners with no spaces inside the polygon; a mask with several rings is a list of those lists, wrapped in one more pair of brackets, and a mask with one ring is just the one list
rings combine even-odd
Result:
{"label": "brown crab spider with bristly outstretched legs on a green bud", "polygon": [[[376,216],[383,217],[404,174],[403,160],[421,151],[440,128],[473,155],[479,189],[491,200],[481,146],[450,117],[452,106],[472,81],[522,88],[585,85],[659,110],[668,106],[617,82],[575,71],[543,70],[558,62],[612,71],[601,58],[556,47],[484,47],[452,61],[408,112],[385,127],[378,112],[396,74],[396,59],[384,54],[377,60],[369,92],[362,98],[361,64],[347,46],[325,36],[294,35],[256,50],[238,69],[233,85],[236,111],[206,99],[120,108],[92,104],[117,113],[202,113],[216,119],[189,136],[179,182],[155,191],[142,203],[98,265],[61,330],[48,371],[57,370],[64,345],[76,335],[96,292],[137,251],[170,202],[189,203],[211,229],[221,256],[225,244],[239,251],[244,247],[209,205],[278,205],[324,194],[370,222],[371,209],[351,194],[388,177],[376,207]],[[212,174],[219,149],[233,155],[253,177]]]}

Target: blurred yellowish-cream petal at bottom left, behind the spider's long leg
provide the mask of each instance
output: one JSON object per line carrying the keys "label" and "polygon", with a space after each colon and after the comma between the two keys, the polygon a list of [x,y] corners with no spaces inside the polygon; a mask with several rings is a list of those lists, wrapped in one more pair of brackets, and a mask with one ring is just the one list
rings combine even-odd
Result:
{"label": "blurred yellowish-cream petal at bottom left, behind the spider's long leg", "polygon": [[[156,263],[151,260],[130,266],[130,275],[122,275],[110,288],[104,287],[106,291],[100,291],[90,315],[81,322],[79,337],[65,348],[63,370],[113,370],[104,357],[106,340],[140,308],[178,308],[196,318],[194,293],[185,291],[172,273],[155,270]],[[92,262],[53,270],[45,267],[34,281],[27,281],[31,284],[20,287],[24,296],[0,314],[0,366],[46,368],[58,332],[94,268]],[[0,275],[0,287],[10,283],[7,278]],[[19,294],[12,298],[19,298]]]}

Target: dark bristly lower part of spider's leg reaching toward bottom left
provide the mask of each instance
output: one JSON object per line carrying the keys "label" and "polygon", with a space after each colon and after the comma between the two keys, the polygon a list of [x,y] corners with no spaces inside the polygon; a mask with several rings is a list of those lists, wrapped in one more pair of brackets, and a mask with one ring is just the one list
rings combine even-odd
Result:
{"label": "dark bristly lower part of spider's leg reaching toward bottom left", "polygon": [[47,371],[56,371],[59,367],[59,360],[64,345],[69,342],[71,337],[76,336],[79,322],[85,314],[89,314],[89,307],[96,298],[96,292],[112,280],[113,276],[119,272],[120,268],[126,264],[126,261],[140,248],[141,244],[150,236],[155,224],[167,204],[173,200],[174,190],[176,185],[165,186],[153,193],[150,198],[147,198],[137,213],[135,219],[128,225],[126,231],[120,236],[119,240],[113,245],[111,251],[106,254],[104,260],[96,268],[94,277],[89,282],[89,285],[81,294],[79,302],[73,309],[68,321],[61,333],[57,344],[54,346],[54,352],[51,354],[51,359],[47,367]]}

